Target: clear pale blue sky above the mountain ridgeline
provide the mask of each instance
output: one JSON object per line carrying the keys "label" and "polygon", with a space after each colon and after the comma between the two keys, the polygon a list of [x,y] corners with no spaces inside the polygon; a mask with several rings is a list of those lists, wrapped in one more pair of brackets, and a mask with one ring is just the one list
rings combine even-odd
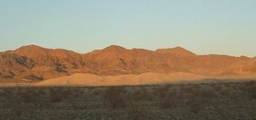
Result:
{"label": "clear pale blue sky above the mountain ridgeline", "polygon": [[256,0],[0,0],[0,51],[183,47],[256,56]]}

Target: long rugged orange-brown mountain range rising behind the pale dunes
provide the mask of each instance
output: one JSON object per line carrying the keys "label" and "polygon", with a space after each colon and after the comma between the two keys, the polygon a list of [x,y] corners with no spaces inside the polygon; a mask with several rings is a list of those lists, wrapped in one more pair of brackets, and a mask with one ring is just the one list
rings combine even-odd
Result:
{"label": "long rugged orange-brown mountain range rising behind the pale dunes", "polygon": [[112,45],[79,54],[28,45],[0,53],[0,78],[44,80],[73,73],[116,76],[145,72],[232,76],[255,74],[255,61],[246,56],[197,55],[181,47],[151,51]]}

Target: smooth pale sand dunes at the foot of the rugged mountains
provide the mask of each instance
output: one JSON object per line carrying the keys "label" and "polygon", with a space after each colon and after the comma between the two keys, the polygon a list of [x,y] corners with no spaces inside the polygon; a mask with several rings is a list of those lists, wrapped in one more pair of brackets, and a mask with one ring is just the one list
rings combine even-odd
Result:
{"label": "smooth pale sand dunes at the foot of the rugged mountains", "polygon": [[94,74],[76,73],[72,76],[59,77],[46,80],[38,85],[87,85],[87,86],[108,86],[108,85],[143,85],[158,83],[173,83],[183,81],[202,80],[207,77],[191,73],[177,72],[172,74],[143,73],[140,75],[119,75],[119,76],[97,76]]}

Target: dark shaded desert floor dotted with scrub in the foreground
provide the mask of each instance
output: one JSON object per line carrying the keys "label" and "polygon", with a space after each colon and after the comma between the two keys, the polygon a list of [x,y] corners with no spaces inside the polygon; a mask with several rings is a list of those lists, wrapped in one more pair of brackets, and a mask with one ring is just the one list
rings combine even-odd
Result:
{"label": "dark shaded desert floor dotted with scrub in the foreground", "polygon": [[255,120],[256,82],[0,88],[0,119]]}

